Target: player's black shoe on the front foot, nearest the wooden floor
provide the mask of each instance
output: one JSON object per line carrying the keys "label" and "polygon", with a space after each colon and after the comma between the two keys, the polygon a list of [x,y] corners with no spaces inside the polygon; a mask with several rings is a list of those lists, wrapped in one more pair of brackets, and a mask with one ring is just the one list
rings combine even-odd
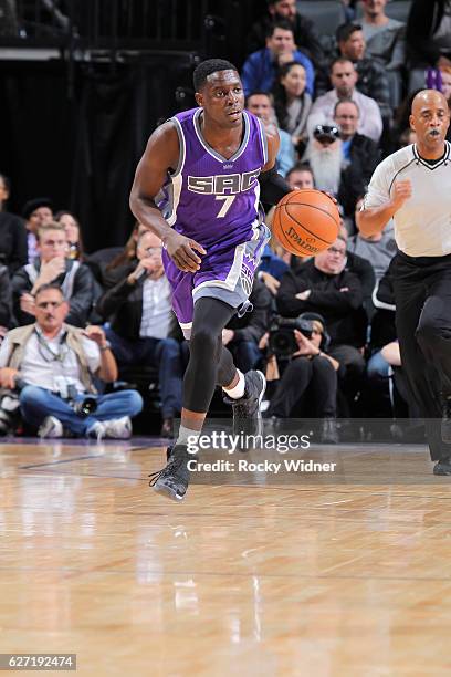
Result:
{"label": "player's black shoe on the front foot, nearest the wooden floor", "polygon": [[188,454],[186,445],[168,447],[166,457],[168,462],[165,468],[149,475],[149,487],[172,501],[181,501],[189,483],[188,461],[196,457]]}

